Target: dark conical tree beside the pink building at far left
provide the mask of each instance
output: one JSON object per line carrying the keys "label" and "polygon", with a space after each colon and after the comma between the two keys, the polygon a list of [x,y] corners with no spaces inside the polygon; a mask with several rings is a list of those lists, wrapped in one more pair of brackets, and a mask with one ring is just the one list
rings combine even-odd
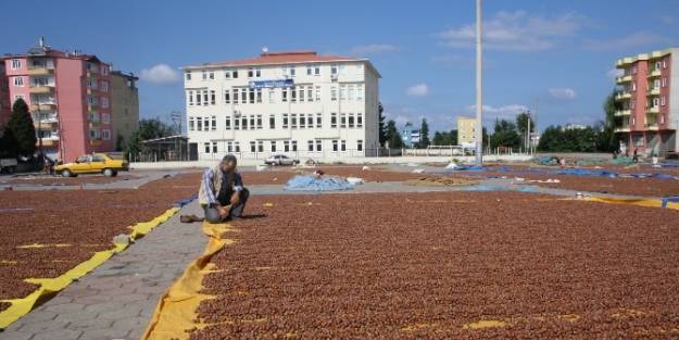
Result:
{"label": "dark conical tree beside the pink building at far left", "polygon": [[5,152],[10,156],[30,156],[36,151],[36,128],[28,105],[21,98],[12,105],[12,115],[2,139],[2,144],[8,148]]}

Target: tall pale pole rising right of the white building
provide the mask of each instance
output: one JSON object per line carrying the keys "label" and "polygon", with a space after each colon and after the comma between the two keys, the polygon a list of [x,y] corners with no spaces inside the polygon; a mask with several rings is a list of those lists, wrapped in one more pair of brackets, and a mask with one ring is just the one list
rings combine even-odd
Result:
{"label": "tall pale pole rising right of the white building", "polygon": [[483,47],[481,0],[476,0],[476,165],[483,164]]}

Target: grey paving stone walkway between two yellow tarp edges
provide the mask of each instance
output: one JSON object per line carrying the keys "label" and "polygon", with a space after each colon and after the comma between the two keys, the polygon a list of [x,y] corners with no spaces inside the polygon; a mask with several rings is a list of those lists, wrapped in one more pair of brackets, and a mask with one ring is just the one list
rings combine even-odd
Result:
{"label": "grey paving stone walkway between two yellow tarp edges", "polygon": [[139,339],[159,298],[204,249],[201,224],[179,214],[200,213],[197,201],[124,252],[37,307],[2,340]]}

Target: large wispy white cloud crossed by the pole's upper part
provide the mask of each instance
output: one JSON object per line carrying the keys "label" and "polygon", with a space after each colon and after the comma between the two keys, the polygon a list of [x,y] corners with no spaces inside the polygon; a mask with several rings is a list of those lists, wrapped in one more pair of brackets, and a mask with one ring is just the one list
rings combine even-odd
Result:
{"label": "large wispy white cloud crossed by the pole's upper part", "polygon": [[[483,22],[483,46],[507,51],[543,51],[556,46],[558,38],[575,35],[586,22],[581,14],[569,12],[545,17],[525,11],[498,12]],[[442,46],[471,48],[476,25],[467,24],[437,34]]]}

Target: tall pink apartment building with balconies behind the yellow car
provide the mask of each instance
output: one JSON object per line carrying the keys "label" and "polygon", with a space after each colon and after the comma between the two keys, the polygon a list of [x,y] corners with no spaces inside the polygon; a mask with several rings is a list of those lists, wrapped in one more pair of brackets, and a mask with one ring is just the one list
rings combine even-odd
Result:
{"label": "tall pink apartment building with balconies behind the yellow car", "polygon": [[[5,54],[0,61],[5,71],[0,96],[11,103],[26,101],[38,146],[47,155],[70,162],[81,154],[113,151],[106,63],[96,55],[54,50],[42,39],[26,53]],[[9,83],[7,93],[2,81]],[[4,104],[0,127],[9,115],[3,109]]]}

